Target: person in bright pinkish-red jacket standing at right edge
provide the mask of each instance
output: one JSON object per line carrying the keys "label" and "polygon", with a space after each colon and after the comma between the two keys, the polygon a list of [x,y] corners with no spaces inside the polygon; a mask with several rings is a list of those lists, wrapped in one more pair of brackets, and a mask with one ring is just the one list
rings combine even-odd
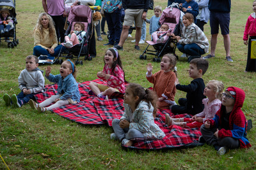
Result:
{"label": "person in bright pinkish-red jacket standing at right edge", "polygon": [[[245,29],[244,29],[244,45],[248,45],[248,55],[247,55],[247,64],[244,72],[247,71],[254,71],[256,72],[256,59],[252,59],[253,56],[251,56],[251,46],[252,46],[252,40],[256,39],[256,0],[253,1],[252,4],[252,10],[253,13],[248,17]],[[248,36],[249,36],[249,42],[248,42]],[[255,56],[256,57],[256,54]]]}

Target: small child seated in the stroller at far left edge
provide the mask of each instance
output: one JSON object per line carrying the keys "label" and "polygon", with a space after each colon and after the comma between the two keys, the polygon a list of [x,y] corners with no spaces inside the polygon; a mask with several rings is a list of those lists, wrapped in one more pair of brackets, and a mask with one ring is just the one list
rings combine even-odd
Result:
{"label": "small child seated in the stroller at far left edge", "polygon": [[13,28],[13,20],[12,17],[10,17],[10,12],[7,8],[2,8],[0,14],[0,32],[1,36],[4,36],[8,34],[11,28]]}

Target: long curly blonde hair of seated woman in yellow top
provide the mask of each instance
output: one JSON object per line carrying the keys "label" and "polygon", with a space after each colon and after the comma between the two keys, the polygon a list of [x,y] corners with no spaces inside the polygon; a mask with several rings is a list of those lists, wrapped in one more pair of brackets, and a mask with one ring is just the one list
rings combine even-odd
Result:
{"label": "long curly blonde hair of seated woman in yellow top", "polygon": [[49,36],[50,36],[50,38],[52,38],[52,36],[54,36],[54,34],[56,34],[55,27],[54,27],[54,21],[52,20],[52,17],[45,12],[39,14],[38,20],[37,20],[35,28],[34,28],[34,33],[35,33],[36,29],[38,29],[40,34],[44,38],[44,28],[42,26],[42,17],[43,16],[46,16],[46,18],[49,20],[49,25],[48,25]]}

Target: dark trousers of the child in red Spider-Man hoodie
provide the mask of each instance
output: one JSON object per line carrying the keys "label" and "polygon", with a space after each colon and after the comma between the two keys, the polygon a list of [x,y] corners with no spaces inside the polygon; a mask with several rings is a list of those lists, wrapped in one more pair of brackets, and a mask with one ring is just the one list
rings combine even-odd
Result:
{"label": "dark trousers of the child in red Spider-Man hoodie", "polygon": [[238,139],[231,138],[231,137],[217,139],[216,136],[214,136],[214,132],[217,131],[216,127],[207,129],[205,127],[205,125],[202,125],[200,127],[200,131],[208,145],[226,146],[227,148],[230,148],[230,149],[239,148],[239,140]]}

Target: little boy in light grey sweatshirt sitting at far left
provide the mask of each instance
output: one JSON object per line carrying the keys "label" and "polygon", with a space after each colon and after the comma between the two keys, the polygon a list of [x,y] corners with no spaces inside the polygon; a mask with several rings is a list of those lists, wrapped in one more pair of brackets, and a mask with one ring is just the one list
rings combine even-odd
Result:
{"label": "little boy in light grey sweatshirt sitting at far left", "polygon": [[29,99],[33,99],[35,94],[44,92],[44,71],[38,68],[38,57],[28,55],[26,57],[26,69],[23,69],[18,78],[19,88],[21,92],[16,96],[10,97],[4,94],[3,99],[6,106],[15,106],[20,108],[23,104],[28,103]]}

